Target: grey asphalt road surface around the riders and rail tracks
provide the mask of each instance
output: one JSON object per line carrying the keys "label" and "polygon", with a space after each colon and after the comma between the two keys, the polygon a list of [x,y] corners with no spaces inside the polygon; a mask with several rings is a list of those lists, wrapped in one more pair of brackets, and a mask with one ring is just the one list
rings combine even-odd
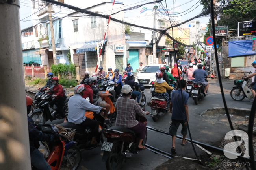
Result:
{"label": "grey asphalt road surface around the riders and rail tracks", "polygon": [[[213,107],[224,106],[219,88],[219,82],[216,82],[213,79],[209,79],[209,83],[210,88],[208,90],[208,96],[206,96],[205,99],[200,100],[198,105],[195,105],[192,98],[190,98],[188,101],[189,128],[193,140],[218,146],[219,142],[224,138],[224,135],[228,131],[230,131],[230,127],[228,126],[228,124],[211,122],[211,120],[206,121],[205,117],[200,116],[200,113],[204,110]],[[250,109],[252,103],[250,103],[247,98],[245,98],[243,101],[236,102],[230,97],[229,93],[232,87],[234,87],[233,80],[223,80],[223,88],[228,107],[240,107]],[[149,88],[146,88],[144,93],[146,95],[147,102],[150,101],[151,94]],[[150,111],[150,107],[148,106],[145,107],[145,109],[146,111]],[[221,116],[224,117],[224,115]],[[148,126],[163,130],[165,132],[169,131],[169,127],[171,124],[171,114],[169,112],[160,117],[157,122],[154,122],[150,115],[147,115],[146,118],[148,120]],[[56,120],[52,123],[58,124],[61,122],[63,122],[63,120]],[[180,130],[181,126],[178,129],[177,135],[181,135]],[[187,138],[190,138],[189,135],[187,135]],[[177,156],[195,158],[195,154],[193,152],[191,144],[182,146],[181,140],[179,139],[176,139],[175,143]],[[171,153],[171,137],[148,131],[147,144]],[[195,146],[195,149],[197,155],[202,154],[203,151],[200,150],[197,146]],[[105,163],[101,161],[102,155],[103,152],[100,150],[100,148],[84,151],[82,153],[82,162],[80,165],[82,166],[81,170],[105,170]],[[164,163],[167,160],[167,158],[161,155],[154,154],[149,150],[143,150],[142,152],[136,154],[132,159],[128,159],[126,163],[124,162],[122,164],[121,170],[150,170],[160,165],[161,163]]]}

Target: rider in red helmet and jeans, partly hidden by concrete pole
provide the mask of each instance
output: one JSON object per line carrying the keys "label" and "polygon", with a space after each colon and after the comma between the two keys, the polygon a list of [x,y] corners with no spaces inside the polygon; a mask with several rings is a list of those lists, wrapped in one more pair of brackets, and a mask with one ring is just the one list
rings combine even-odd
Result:
{"label": "rider in red helmet and jeans, partly hidden by concrete pole", "polygon": [[[31,111],[32,102],[31,97],[26,96],[27,115]],[[34,123],[33,119],[28,116],[28,136],[31,165],[37,170],[52,170],[51,166],[46,162],[44,155],[38,150],[40,146],[38,141],[50,142],[53,140],[59,140],[59,135],[50,135],[39,131],[36,128],[36,124]]]}

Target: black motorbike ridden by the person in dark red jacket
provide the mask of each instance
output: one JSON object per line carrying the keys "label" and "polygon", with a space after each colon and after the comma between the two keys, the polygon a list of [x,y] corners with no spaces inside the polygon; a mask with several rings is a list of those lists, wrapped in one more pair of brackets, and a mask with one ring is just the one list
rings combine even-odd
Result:
{"label": "black motorbike ridden by the person in dark red jacket", "polygon": [[[71,96],[70,96],[71,97]],[[62,108],[65,115],[68,115],[68,101],[70,97],[67,97],[64,101],[64,106]],[[31,119],[35,122],[35,124],[45,124],[46,121],[50,120],[56,120],[56,119],[62,119],[56,111],[58,108],[54,106],[48,105],[50,101],[52,101],[52,95],[45,93],[41,97],[42,101],[38,104],[39,108],[34,110],[32,112],[32,115],[30,116]]]}

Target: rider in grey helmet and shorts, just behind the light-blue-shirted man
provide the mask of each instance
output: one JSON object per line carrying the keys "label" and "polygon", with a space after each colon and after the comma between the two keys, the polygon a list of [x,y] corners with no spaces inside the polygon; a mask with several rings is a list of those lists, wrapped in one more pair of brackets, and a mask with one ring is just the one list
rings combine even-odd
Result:
{"label": "rider in grey helmet and shorts, just behind the light-blue-shirted man", "polygon": [[108,104],[106,102],[103,102],[103,101],[99,102],[97,100],[97,96],[105,98],[107,96],[110,96],[111,94],[102,94],[102,93],[100,93],[98,88],[95,86],[95,84],[97,83],[97,77],[96,76],[91,76],[90,79],[93,80],[93,83],[94,83],[94,84],[91,84],[88,81],[89,85],[91,84],[91,89],[93,90],[93,104],[96,105],[96,106],[100,106],[102,108],[106,108],[106,110],[104,112],[104,118],[108,119],[107,115],[108,115],[108,112],[109,112],[109,109],[110,109],[110,104]]}

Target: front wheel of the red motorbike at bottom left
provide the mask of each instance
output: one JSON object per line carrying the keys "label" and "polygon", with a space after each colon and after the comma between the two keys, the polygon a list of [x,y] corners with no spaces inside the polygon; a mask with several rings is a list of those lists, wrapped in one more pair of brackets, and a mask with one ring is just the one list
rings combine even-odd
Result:
{"label": "front wheel of the red motorbike at bottom left", "polygon": [[73,166],[69,163],[66,157],[63,157],[59,170],[77,170],[82,160],[82,153],[80,149],[76,145],[73,145],[70,146],[67,152],[67,157],[69,157]]}

